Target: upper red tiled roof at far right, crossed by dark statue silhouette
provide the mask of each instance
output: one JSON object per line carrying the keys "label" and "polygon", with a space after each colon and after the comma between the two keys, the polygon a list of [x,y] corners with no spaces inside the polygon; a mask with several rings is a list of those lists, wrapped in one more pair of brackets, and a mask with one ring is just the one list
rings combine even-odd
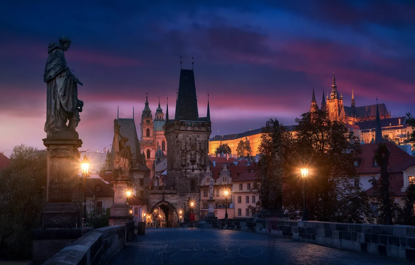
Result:
{"label": "upper red tiled roof at far right, crossed by dark statue silhouette", "polygon": [[[388,160],[388,172],[392,172],[396,165],[402,164],[403,162],[411,159],[412,156],[407,152],[400,149],[392,142],[385,142],[388,150],[391,152]],[[360,174],[377,174],[381,171],[380,167],[374,167],[375,149],[378,147],[378,143],[364,144],[361,145],[361,162],[358,168]],[[402,171],[402,170],[399,170]]]}

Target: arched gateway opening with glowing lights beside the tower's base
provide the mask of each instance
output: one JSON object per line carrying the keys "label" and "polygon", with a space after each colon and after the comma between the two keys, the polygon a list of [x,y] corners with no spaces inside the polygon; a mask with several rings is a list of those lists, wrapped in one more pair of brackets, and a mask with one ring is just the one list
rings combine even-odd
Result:
{"label": "arched gateway opening with glowing lights beside the tower's base", "polygon": [[178,227],[177,210],[167,201],[159,201],[149,212],[151,221],[159,227]]}

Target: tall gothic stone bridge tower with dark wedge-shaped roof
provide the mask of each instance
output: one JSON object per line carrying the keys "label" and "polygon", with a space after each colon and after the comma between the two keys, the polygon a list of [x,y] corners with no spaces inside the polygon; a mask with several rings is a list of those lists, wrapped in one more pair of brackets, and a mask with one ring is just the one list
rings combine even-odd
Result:
{"label": "tall gothic stone bridge tower with dark wedge-shaped roof", "polygon": [[177,222],[179,209],[188,213],[193,211],[196,220],[200,216],[199,205],[195,204],[192,208],[189,201],[199,201],[198,186],[209,161],[211,132],[209,101],[206,117],[199,117],[194,72],[181,69],[173,119],[169,119],[168,106],[166,107],[164,126],[164,136],[167,140],[166,187],[163,194],[151,191],[149,201],[150,209],[160,207],[165,215],[168,213],[173,227]]}

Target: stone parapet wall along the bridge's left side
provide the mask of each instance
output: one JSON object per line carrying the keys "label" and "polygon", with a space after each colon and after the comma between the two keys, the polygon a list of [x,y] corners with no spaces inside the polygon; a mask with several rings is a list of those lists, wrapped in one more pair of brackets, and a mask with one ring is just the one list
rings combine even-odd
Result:
{"label": "stone parapet wall along the bridge's left side", "polygon": [[132,240],[133,237],[134,221],[127,221],[119,226],[94,229],[43,264],[105,265],[125,245],[125,242]]}

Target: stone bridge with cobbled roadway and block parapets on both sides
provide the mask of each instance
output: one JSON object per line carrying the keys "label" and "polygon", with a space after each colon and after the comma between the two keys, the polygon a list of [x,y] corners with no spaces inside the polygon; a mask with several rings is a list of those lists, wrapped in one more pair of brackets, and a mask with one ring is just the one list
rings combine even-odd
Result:
{"label": "stone bridge with cobbled roadway and block parapets on both sides", "polygon": [[415,262],[414,226],[235,218],[190,222],[182,228],[147,228],[145,235],[134,236],[130,225],[93,230],[45,264]]}

